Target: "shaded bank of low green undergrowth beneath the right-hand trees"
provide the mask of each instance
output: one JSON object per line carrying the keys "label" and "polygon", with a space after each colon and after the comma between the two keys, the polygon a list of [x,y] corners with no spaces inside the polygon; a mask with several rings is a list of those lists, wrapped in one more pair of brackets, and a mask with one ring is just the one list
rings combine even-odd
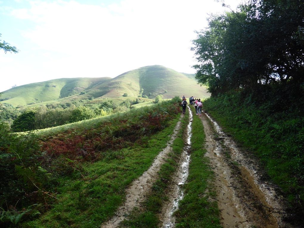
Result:
{"label": "shaded bank of low green undergrowth beneath the right-hand trees", "polygon": [[272,181],[289,199],[295,219],[304,215],[303,98],[301,86],[287,83],[257,94],[230,92],[203,104],[230,134],[260,158]]}

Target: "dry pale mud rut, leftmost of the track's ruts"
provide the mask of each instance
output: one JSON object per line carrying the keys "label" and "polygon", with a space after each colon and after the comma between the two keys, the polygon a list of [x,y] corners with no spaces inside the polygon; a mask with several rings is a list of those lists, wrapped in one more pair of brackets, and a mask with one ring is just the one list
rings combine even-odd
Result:
{"label": "dry pale mud rut, leftmost of the track's ruts", "polygon": [[171,139],[169,140],[167,147],[157,155],[150,168],[145,171],[142,176],[131,183],[130,187],[125,191],[126,200],[123,205],[118,208],[115,216],[102,224],[100,227],[118,227],[119,223],[126,219],[127,215],[129,215],[135,207],[140,207],[140,204],[146,199],[146,195],[150,192],[152,184],[157,178],[157,172],[160,170],[161,165],[168,158],[168,154],[172,152],[171,144],[176,138],[180,126],[181,122],[179,121],[174,128],[174,132],[171,135]]}

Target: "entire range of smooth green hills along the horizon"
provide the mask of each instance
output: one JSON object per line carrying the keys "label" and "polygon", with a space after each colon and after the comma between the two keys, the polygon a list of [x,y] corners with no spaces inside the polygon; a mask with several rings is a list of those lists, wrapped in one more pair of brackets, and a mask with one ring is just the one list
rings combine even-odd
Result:
{"label": "entire range of smooth green hills along the horizon", "polygon": [[[85,93],[80,94],[81,92]],[[164,66],[154,65],[140,67],[112,79],[61,78],[22,85],[4,91],[2,98],[5,98],[5,101],[2,103],[17,107],[68,102],[73,99],[87,100],[91,97],[98,102],[101,98],[117,98],[124,93],[133,97],[147,95],[149,98],[155,98],[159,94],[164,98],[182,95],[199,98],[210,96],[205,87],[197,85],[194,74],[179,73]]]}

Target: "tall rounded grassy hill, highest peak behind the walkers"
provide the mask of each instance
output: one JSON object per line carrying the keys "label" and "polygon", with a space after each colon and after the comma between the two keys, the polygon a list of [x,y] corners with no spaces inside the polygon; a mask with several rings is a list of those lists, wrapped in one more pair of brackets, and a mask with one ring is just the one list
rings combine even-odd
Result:
{"label": "tall rounded grassy hill, highest peak behind the walkers", "polygon": [[[184,94],[187,97],[209,97],[206,88],[197,85],[192,74],[179,73],[159,65],[140,67],[128,71],[100,87],[96,86],[94,89],[96,88],[101,91],[106,90],[97,95],[109,98],[121,96],[123,93],[138,96],[141,89],[143,89],[143,95],[148,96],[151,93],[151,97],[159,94],[162,94],[164,98],[181,97]],[[165,90],[167,90],[167,93],[165,93]],[[91,91],[88,91],[88,93],[91,93]]]}

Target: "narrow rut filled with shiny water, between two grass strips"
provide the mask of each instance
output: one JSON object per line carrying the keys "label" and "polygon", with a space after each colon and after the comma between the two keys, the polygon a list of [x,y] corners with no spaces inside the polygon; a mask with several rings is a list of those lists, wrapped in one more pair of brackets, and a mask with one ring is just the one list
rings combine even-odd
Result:
{"label": "narrow rut filled with shiny water, between two grass strips", "polygon": [[172,183],[168,187],[168,198],[169,202],[162,208],[160,214],[160,221],[162,223],[161,227],[164,228],[172,228],[175,226],[175,217],[173,213],[178,209],[178,203],[181,199],[184,198],[184,191],[182,189],[182,185],[185,184],[188,174],[189,174],[189,163],[190,163],[190,144],[191,144],[191,131],[192,131],[192,112],[188,107],[189,111],[189,123],[187,129],[187,143],[181,153],[179,166],[177,172],[174,174],[172,178]]}

